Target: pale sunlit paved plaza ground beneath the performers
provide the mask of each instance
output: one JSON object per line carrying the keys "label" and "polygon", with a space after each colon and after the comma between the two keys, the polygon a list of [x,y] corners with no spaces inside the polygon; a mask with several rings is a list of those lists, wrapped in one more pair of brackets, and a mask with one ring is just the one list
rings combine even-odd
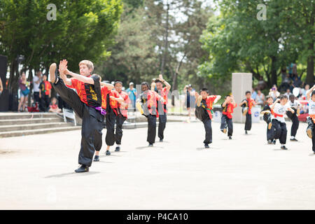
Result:
{"label": "pale sunlit paved plaza ground beneath the performers", "polygon": [[84,174],[73,172],[79,130],[0,139],[0,209],[315,209],[306,124],[288,151],[267,145],[264,122],[247,136],[235,124],[232,140],[212,127],[210,149],[200,122],[167,123],[153,148],[146,128],[125,130],[122,151],[105,156],[103,144]]}

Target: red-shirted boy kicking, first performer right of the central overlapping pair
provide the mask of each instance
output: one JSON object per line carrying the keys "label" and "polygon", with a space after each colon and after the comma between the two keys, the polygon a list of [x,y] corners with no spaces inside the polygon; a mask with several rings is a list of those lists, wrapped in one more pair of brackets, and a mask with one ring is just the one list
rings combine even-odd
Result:
{"label": "red-shirted boy kicking, first performer right of the central overlapping pair", "polygon": [[221,99],[221,96],[211,95],[209,96],[209,90],[207,88],[202,88],[200,90],[200,95],[196,92],[196,118],[204,123],[204,130],[206,131],[206,137],[204,139],[204,148],[209,148],[209,144],[212,143],[212,109],[214,104]]}

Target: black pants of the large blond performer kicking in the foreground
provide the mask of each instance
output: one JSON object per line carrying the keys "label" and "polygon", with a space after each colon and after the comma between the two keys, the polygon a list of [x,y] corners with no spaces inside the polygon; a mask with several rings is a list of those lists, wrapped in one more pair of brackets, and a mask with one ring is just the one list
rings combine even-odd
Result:
{"label": "black pants of the large blond performer kicking in the foreground", "polygon": [[81,102],[78,94],[66,87],[61,78],[59,78],[57,84],[52,84],[52,87],[54,87],[64,102],[69,104],[73,111],[82,118],[82,138],[78,163],[90,167],[92,165],[94,151],[99,151],[102,148],[104,116],[102,116],[99,111]]}

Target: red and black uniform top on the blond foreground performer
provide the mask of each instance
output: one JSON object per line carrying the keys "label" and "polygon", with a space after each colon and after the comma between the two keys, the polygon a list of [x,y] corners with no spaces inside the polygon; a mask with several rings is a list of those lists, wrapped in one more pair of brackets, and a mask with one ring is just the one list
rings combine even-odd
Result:
{"label": "red and black uniform top on the blond foreground performer", "polygon": [[81,102],[87,104],[87,106],[98,107],[102,105],[102,92],[101,84],[99,83],[99,76],[87,76],[94,80],[94,85],[89,83],[83,83],[76,78],[71,78],[71,85],[66,85],[72,89],[75,89]]}

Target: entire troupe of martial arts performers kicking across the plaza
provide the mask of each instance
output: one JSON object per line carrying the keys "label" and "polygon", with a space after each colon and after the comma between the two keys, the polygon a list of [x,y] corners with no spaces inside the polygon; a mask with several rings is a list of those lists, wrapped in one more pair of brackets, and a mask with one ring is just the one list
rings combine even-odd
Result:
{"label": "entire troupe of martial arts performers kicking across the plaza", "polygon": [[[127,120],[127,110],[130,99],[126,92],[122,91],[123,83],[116,80],[112,85],[102,82],[102,78],[97,74],[92,74],[94,66],[92,62],[83,60],[79,63],[80,74],[73,73],[67,69],[68,62],[64,59],[57,64],[50,65],[50,82],[59,96],[71,106],[73,111],[82,118],[81,144],[78,155],[80,167],[75,172],[88,172],[92,161],[99,161],[99,151],[102,148],[102,130],[104,119],[106,119],[106,155],[111,155],[110,147],[116,143],[115,151],[120,151],[120,144],[123,137],[123,123]],[[67,78],[67,76],[71,78]],[[74,90],[76,91],[74,91]],[[171,85],[163,79],[162,75],[155,79],[151,85],[141,83],[141,94],[137,99],[137,109],[148,120],[148,146],[155,144],[156,122],[159,120],[158,137],[160,141],[164,139],[164,131],[167,123],[167,94]],[[211,120],[213,106],[221,99],[220,95],[209,95],[207,88],[202,88],[200,94],[196,92],[195,116],[204,124],[206,132],[204,147],[209,148],[212,143]],[[309,118],[307,118],[307,136],[312,139],[313,151],[315,153],[315,85],[307,92],[309,102]],[[221,118],[221,132],[228,133],[232,139],[233,123],[232,113],[237,107],[232,95],[225,96],[221,104],[223,114]],[[251,110],[255,106],[255,101],[251,98],[251,92],[246,92],[244,99],[239,106],[243,108],[246,116],[245,134],[251,130]],[[285,95],[273,102],[271,97],[267,97],[267,105],[263,109],[263,118],[267,123],[267,142],[276,144],[279,139],[281,149],[286,150],[286,123],[284,115],[292,120],[291,141],[297,141],[295,134],[299,126],[297,114],[300,104],[295,100],[294,95],[288,99]],[[116,125],[116,128],[115,128]]]}

